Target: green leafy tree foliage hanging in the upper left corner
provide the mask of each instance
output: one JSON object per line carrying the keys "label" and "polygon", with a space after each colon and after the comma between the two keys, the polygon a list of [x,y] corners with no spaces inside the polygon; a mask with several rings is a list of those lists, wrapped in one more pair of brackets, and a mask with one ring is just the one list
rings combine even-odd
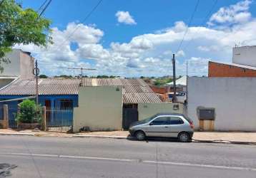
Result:
{"label": "green leafy tree foliage hanging in the upper left corner", "polygon": [[0,71],[4,71],[2,63],[9,63],[4,56],[11,46],[52,43],[50,24],[49,19],[40,17],[33,9],[22,9],[14,0],[0,0]]}

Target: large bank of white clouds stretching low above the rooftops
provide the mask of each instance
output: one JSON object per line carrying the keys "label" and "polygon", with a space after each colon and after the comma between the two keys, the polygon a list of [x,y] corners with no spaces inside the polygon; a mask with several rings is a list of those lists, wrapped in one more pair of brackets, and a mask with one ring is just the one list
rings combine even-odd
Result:
{"label": "large bank of white clouds stretching low above the rooftops", "polygon": [[[249,12],[249,5],[250,1],[242,1],[221,9],[232,9],[236,11],[235,14],[240,14]],[[216,23],[216,20],[211,22]],[[34,45],[15,47],[32,52],[39,59],[41,71],[51,75],[70,74],[69,70],[64,69],[81,66],[98,69],[88,71],[89,75],[172,75],[172,53],[176,54],[177,75],[186,73],[186,63],[189,65],[189,75],[207,75],[207,62],[210,59],[232,61],[232,46],[235,43],[256,44],[255,26],[256,19],[253,17],[250,21],[237,21],[227,28],[190,26],[184,45],[180,51],[175,51],[187,28],[183,21],[177,21],[173,26],[154,33],[134,36],[126,43],[113,41],[107,48],[101,43],[104,38],[102,29],[69,23],[62,31],[53,28],[54,44],[49,44],[47,48]],[[67,38],[75,29],[71,38]],[[77,48],[71,48],[72,43],[77,43]]]}

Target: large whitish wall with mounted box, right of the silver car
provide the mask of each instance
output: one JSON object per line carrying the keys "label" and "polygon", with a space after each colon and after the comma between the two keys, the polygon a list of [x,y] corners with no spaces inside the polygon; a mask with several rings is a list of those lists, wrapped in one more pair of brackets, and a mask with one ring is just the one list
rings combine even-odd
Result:
{"label": "large whitish wall with mounted box, right of the silver car", "polygon": [[256,131],[256,78],[188,78],[187,115],[215,108],[215,130]]}

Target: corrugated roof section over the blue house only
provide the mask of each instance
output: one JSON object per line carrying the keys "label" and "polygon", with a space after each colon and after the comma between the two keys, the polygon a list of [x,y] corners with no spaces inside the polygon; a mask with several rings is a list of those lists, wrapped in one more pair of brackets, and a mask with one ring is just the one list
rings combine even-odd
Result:
{"label": "corrugated roof section over the blue house only", "polygon": [[[39,95],[77,95],[79,79],[39,79]],[[36,95],[36,80],[18,79],[1,88],[0,95]]]}

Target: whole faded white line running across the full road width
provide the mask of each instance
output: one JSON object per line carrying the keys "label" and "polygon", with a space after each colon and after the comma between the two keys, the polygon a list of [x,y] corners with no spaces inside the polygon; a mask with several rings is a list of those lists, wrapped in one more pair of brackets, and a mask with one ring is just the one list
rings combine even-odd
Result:
{"label": "whole faded white line running across the full road width", "polygon": [[150,161],[137,159],[119,159],[111,157],[85,157],[85,156],[72,156],[72,155],[47,155],[47,154],[29,154],[29,153],[18,153],[18,152],[1,152],[0,155],[18,155],[18,156],[32,156],[32,157],[59,157],[59,158],[73,158],[73,159],[94,159],[94,160],[109,160],[109,161],[119,161],[119,162],[142,162],[149,164],[169,164],[176,166],[189,166],[189,167],[206,167],[206,168],[216,168],[216,169],[235,169],[235,170],[247,170],[256,171],[255,167],[229,167],[229,166],[217,166],[212,164],[194,164],[185,162],[162,162],[162,161]]}

